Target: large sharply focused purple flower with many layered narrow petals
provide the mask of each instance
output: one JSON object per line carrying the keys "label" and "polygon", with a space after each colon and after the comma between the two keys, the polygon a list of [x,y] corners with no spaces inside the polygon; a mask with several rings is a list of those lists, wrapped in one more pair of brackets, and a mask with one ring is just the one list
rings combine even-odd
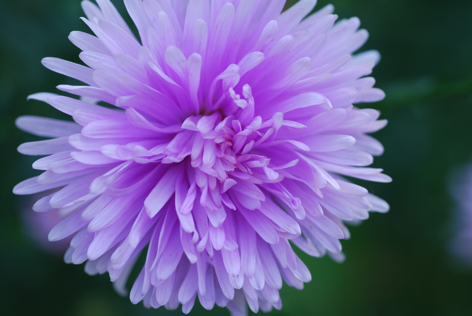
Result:
{"label": "large sharply focused purple flower with many layered narrow petals", "polygon": [[124,292],[147,246],[133,303],[188,313],[198,295],[233,315],[246,302],[269,311],[282,306],[282,280],[311,279],[292,244],[342,259],[343,222],[388,210],[343,178],[391,180],[365,167],[383,151],[366,133],[386,121],[352,105],[384,97],[363,77],[378,53],[350,55],[368,37],[357,18],[334,24],[332,6],[307,17],[315,0],[283,13],[285,0],[125,0],[138,40],[97,2],[82,2],[96,36],[69,37],[88,67],[43,60],[83,81],[58,86],[83,98],[30,96],[75,122],[17,120],[52,137],[19,147],[49,156],[14,192],[58,188],[34,210],[61,209],[49,239],[75,234],[66,262],[88,260],[87,273],[108,271]]}

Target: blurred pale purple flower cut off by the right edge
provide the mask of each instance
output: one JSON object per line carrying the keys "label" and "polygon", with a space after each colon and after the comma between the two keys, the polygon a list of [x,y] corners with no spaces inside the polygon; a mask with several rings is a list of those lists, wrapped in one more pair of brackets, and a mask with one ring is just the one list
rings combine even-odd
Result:
{"label": "blurred pale purple flower cut off by the right edge", "polygon": [[472,164],[456,172],[451,195],[456,204],[451,250],[466,265],[472,266]]}

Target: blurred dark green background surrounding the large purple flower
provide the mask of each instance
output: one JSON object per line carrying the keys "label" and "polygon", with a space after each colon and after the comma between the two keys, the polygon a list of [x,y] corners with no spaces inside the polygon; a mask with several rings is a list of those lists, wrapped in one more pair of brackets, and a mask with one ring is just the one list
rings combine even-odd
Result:
{"label": "blurred dark green background surrounding the large purple flower", "polygon": [[[125,12],[120,0],[113,2]],[[301,255],[312,282],[303,291],[284,286],[284,307],[270,315],[472,315],[472,268],[448,248],[456,208],[451,174],[472,158],[472,1],[319,0],[317,8],[329,2],[340,18],[360,17],[370,32],[361,51],[382,55],[373,76],[387,98],[361,106],[389,120],[375,135],[386,152],[374,166],[394,181],[362,185],[391,210],[351,228],[352,239],[343,241],[345,263]],[[65,118],[26,96],[72,83],[40,61],[79,62],[67,35],[88,31],[82,15],[79,0],[0,1],[0,310],[7,316],[182,315],[134,306],[114,292],[108,275],[91,277],[83,265],[64,264],[62,251],[44,246],[46,237],[34,237],[28,226],[35,221],[31,201],[11,193],[36,174],[30,168],[35,158],[16,147],[39,140],[15,128],[14,120],[25,114]],[[191,315],[229,313],[195,304]]]}

